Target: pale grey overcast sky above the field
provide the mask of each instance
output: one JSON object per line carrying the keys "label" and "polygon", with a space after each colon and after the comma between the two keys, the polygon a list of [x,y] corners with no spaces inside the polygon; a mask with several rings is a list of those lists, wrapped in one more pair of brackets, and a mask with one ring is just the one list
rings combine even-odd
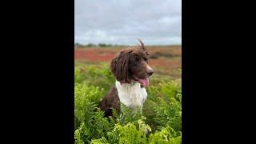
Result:
{"label": "pale grey overcast sky above the field", "polygon": [[74,42],[182,44],[182,0],[74,0]]}

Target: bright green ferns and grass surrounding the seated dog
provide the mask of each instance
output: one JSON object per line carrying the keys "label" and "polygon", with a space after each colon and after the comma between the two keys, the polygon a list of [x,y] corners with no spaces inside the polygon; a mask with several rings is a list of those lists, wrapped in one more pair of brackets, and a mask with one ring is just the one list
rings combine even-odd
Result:
{"label": "bright green ferns and grass surrounding the seated dog", "polygon": [[182,87],[176,79],[150,77],[142,115],[122,105],[123,118],[117,111],[116,118],[104,118],[97,105],[114,85],[109,65],[76,62],[74,72],[75,143],[182,143]]}

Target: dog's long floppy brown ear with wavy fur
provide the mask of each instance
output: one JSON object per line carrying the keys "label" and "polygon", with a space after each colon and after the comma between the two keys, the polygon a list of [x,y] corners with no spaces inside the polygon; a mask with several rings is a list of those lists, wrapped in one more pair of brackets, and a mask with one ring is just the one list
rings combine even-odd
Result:
{"label": "dog's long floppy brown ear with wavy fur", "polygon": [[121,83],[130,83],[128,64],[130,51],[123,50],[110,62],[110,70]]}

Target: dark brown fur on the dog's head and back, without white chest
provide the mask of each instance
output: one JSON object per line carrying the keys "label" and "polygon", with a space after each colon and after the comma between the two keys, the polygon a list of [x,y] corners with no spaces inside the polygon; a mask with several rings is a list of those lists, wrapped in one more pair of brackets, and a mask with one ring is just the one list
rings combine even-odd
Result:
{"label": "dark brown fur on the dog's head and back, without white chest", "polygon": [[[148,78],[154,72],[147,67],[150,54],[147,53],[143,42],[140,39],[138,39],[138,41],[141,43],[141,46],[121,50],[110,62],[110,70],[118,82],[130,83],[131,79],[136,81],[134,75],[138,78]],[[112,114],[110,107],[120,110],[118,90],[115,86],[113,86],[112,90],[102,99],[98,107],[100,107],[102,111],[105,111],[106,117]]]}

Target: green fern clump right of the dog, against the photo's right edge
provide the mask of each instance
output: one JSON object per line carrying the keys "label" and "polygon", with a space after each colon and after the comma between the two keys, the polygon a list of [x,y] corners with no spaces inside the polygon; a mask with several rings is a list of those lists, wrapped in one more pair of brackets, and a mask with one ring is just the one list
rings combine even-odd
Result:
{"label": "green fern clump right of the dog, against the photo's right edge", "polygon": [[[161,82],[149,88],[148,100],[144,110],[146,123],[153,131],[170,126],[175,131],[182,130],[182,94],[181,88],[174,82]],[[156,97],[157,96],[157,97]]]}

